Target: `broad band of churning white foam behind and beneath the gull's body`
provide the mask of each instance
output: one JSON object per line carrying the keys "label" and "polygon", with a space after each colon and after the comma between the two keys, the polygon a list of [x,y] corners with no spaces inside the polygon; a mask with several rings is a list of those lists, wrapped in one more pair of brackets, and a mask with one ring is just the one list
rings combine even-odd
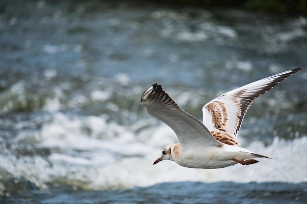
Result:
{"label": "broad band of churning white foam behind and beneath the gull's body", "polygon": [[[177,141],[165,124],[144,127],[108,123],[104,117],[68,116],[54,113],[53,120],[39,132],[17,136],[16,142],[33,136],[38,147],[50,148],[51,155],[16,158],[0,155],[2,167],[16,177],[26,178],[44,188],[45,183],[80,181],[92,189],[149,186],[168,181],[303,182],[307,181],[307,136],[285,141],[276,138],[272,145],[254,141],[246,148],[274,159],[223,169],[191,169],[174,161],[153,166],[162,148]],[[90,129],[91,131],[84,131]]]}

